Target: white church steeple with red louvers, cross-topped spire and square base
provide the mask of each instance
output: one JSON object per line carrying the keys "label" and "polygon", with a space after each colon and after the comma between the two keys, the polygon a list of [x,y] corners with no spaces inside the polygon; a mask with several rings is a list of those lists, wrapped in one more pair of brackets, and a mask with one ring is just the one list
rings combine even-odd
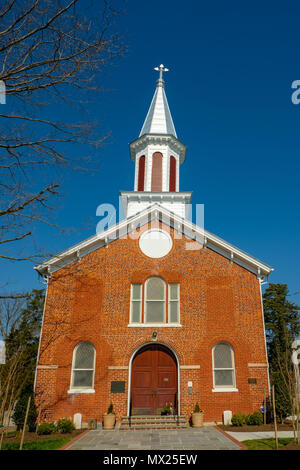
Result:
{"label": "white church steeple with red louvers, cross-topped spire and square base", "polygon": [[164,65],[139,137],[129,144],[135,162],[134,191],[121,191],[125,217],[153,204],[187,217],[190,192],[179,192],[179,169],[185,160],[186,146],[178,140],[164,89]]}

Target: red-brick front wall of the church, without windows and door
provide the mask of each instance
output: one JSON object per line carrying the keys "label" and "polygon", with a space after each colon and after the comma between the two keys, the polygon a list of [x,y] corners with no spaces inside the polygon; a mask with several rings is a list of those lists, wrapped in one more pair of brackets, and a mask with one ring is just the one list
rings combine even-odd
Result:
{"label": "red-brick front wall of the church, without windows and door", "polygon": [[[44,419],[80,412],[83,421],[101,420],[110,401],[118,419],[127,415],[130,359],[151,341],[154,329],[157,341],[173,349],[180,366],[200,365],[180,369],[181,414],[189,417],[196,401],[206,422],[221,421],[224,410],[249,413],[261,406],[268,379],[259,282],[208,248],[187,250],[188,242],[174,239],[167,256],[151,259],[142,254],[138,240],[118,239],[52,274],[36,385],[37,403],[43,394]],[[128,328],[130,284],[151,275],[180,283],[181,328]],[[67,393],[79,341],[96,348],[94,394]],[[212,392],[212,348],[218,341],[234,349],[238,392]],[[43,368],[47,365],[58,367]],[[248,384],[249,377],[257,378],[257,384]],[[126,382],[125,393],[110,393],[114,380]],[[193,382],[192,395],[188,381]]]}

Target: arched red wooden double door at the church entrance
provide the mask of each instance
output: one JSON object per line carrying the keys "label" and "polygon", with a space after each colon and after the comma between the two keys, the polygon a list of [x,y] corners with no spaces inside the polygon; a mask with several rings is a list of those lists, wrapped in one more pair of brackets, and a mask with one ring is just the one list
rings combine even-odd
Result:
{"label": "arched red wooden double door at the church entrance", "polygon": [[132,362],[131,414],[160,414],[166,403],[177,413],[176,359],[162,345],[145,346]]}

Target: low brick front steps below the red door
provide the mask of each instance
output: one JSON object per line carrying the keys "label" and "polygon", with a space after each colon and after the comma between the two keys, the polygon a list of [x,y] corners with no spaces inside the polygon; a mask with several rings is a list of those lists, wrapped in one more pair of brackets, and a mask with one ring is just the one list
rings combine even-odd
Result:
{"label": "low brick front steps below the red door", "polygon": [[138,415],[122,416],[120,431],[130,429],[185,429],[185,416]]}

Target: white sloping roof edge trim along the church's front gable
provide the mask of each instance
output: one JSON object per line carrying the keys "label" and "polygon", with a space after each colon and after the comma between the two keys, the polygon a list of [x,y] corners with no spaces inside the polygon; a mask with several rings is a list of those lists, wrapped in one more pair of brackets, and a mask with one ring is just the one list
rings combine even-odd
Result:
{"label": "white sloping roof edge trim along the church's front gable", "polygon": [[188,238],[203,244],[205,247],[221,254],[222,256],[225,256],[230,259],[231,262],[237,263],[248,271],[257,274],[260,278],[267,277],[273,271],[273,268],[249,255],[245,251],[240,250],[207,230],[202,229],[189,220],[182,219],[159,204],[153,204],[138,214],[124,219],[103,232],[87,238],[86,240],[37,265],[34,269],[42,276],[47,277],[51,273],[81,259],[98,248],[107,246],[114,240],[132,233],[138,227],[141,227],[152,220],[163,222],[164,224],[174,228],[177,232],[183,233]]}

